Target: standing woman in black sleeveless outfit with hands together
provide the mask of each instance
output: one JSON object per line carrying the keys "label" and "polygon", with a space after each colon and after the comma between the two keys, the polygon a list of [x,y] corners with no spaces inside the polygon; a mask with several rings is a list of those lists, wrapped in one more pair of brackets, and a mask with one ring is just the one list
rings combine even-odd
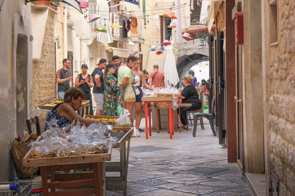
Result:
{"label": "standing woman in black sleeveless outfit with hands together", "polygon": [[[90,75],[87,73],[88,66],[83,64],[81,66],[82,73],[78,74],[75,80],[75,86],[80,87],[85,95],[85,100],[90,100],[90,115],[93,115],[92,110],[92,96],[91,96],[91,89],[93,87],[93,82],[90,80]],[[82,112],[83,113],[83,112]],[[88,114],[88,107],[86,108],[86,114]]]}

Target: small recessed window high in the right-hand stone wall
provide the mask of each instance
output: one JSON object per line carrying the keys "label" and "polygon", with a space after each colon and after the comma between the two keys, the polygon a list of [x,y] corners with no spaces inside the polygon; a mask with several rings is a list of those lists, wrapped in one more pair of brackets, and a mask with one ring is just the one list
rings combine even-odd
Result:
{"label": "small recessed window high in the right-hand stone wall", "polygon": [[270,41],[271,45],[278,43],[278,6],[277,0],[270,3]]}

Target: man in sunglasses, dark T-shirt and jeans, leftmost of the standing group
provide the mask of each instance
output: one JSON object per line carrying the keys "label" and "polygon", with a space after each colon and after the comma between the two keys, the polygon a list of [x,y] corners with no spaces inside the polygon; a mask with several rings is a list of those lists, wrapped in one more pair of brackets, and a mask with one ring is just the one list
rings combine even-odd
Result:
{"label": "man in sunglasses, dark T-shirt and jeans, leftmost of the standing group", "polygon": [[73,86],[71,75],[71,60],[68,58],[63,59],[63,68],[59,69],[56,73],[57,83],[57,96],[59,99],[63,99],[65,91]]}

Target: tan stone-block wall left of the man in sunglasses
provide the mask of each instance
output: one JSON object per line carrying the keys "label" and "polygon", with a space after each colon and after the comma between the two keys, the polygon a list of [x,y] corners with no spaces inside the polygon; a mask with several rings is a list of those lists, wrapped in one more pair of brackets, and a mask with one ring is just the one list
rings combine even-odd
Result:
{"label": "tan stone-block wall left of the man in sunglasses", "polygon": [[[54,12],[49,11],[41,58],[33,61],[33,107],[55,98],[55,46],[54,46]],[[35,113],[35,110],[34,110]],[[38,112],[41,130],[44,130],[46,112]]]}

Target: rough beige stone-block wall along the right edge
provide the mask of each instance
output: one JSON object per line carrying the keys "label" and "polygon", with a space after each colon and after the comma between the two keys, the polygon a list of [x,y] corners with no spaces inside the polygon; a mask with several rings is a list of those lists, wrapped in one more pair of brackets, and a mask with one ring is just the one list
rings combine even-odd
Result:
{"label": "rough beige stone-block wall along the right edge", "polygon": [[295,195],[295,1],[277,6],[278,44],[269,49],[268,162],[279,178],[279,195]]}

